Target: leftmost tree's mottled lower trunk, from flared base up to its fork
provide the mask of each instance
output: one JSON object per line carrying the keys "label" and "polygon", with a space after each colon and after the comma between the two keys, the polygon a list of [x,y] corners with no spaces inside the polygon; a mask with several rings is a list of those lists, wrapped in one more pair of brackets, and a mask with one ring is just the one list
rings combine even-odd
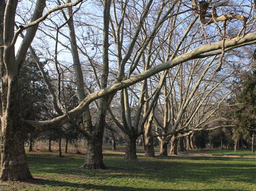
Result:
{"label": "leftmost tree's mottled lower trunk, from flared base up to its fork", "polygon": [[0,179],[33,179],[24,149],[23,138],[26,132],[19,113],[18,79],[6,74],[2,79]]}

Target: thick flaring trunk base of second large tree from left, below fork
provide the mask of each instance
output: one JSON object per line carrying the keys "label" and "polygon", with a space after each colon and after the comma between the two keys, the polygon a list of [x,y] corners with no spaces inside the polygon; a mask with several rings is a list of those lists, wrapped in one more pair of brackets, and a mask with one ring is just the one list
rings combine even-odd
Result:
{"label": "thick flaring trunk base of second large tree from left, below fork", "polygon": [[93,136],[87,139],[85,162],[81,168],[85,169],[106,169],[102,155],[102,137]]}

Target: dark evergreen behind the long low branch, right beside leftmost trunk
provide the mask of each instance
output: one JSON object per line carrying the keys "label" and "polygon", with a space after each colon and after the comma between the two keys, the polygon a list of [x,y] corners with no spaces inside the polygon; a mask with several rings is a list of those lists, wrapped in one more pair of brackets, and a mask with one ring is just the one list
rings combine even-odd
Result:
{"label": "dark evergreen behind the long low branch, right beside leftmost trunk", "polygon": [[[40,63],[44,65],[44,63]],[[40,71],[31,56],[27,56],[20,69],[19,78],[20,111],[22,118],[30,120],[47,119],[46,114],[51,113],[47,88]],[[33,133],[27,136],[29,152],[33,151],[33,141],[37,137]]]}

